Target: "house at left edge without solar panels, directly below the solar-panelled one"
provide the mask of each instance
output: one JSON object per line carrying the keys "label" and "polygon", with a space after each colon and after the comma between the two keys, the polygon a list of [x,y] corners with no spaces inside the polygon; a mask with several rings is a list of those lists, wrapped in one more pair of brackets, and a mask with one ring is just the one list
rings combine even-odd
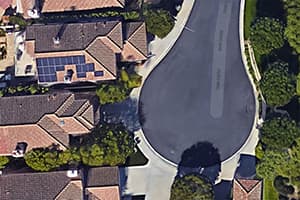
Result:
{"label": "house at left edge without solar panels, directly below the solar-panelled one", "polygon": [[0,110],[0,155],[15,157],[53,144],[64,150],[99,121],[92,98],[73,93],[2,97]]}

